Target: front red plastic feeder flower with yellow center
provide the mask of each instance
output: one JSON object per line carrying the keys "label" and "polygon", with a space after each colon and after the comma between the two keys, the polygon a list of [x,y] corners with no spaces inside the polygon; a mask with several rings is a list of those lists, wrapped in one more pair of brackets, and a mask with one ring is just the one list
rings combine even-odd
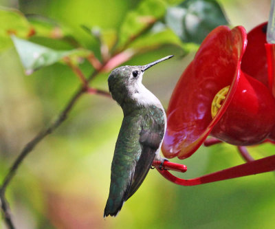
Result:
{"label": "front red plastic feeder flower with yellow center", "polygon": [[[266,72],[263,77],[256,72],[254,79],[241,71],[246,44],[241,26],[219,26],[208,34],[170,99],[164,156],[184,159],[209,134],[230,144],[250,145],[272,132],[275,100],[265,86]],[[248,63],[253,59],[250,51],[245,54]],[[252,71],[248,63],[243,68]]]}

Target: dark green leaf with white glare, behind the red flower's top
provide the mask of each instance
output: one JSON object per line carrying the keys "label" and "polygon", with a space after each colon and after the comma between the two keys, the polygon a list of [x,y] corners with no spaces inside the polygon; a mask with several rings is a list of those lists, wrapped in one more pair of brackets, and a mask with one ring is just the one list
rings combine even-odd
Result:
{"label": "dark green leaf with white glare, behind the red flower's top", "polygon": [[168,8],[166,24],[186,43],[201,43],[207,34],[228,21],[215,0],[186,0]]}

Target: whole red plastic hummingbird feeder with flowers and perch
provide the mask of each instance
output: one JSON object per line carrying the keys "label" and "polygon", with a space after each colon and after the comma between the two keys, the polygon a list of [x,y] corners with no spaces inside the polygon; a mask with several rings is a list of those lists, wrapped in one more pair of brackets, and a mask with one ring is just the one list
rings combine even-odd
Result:
{"label": "whole red plastic hummingbird feeder with flowers and perch", "polygon": [[166,179],[192,186],[275,170],[275,155],[253,160],[245,149],[275,141],[275,45],[267,43],[266,34],[267,23],[248,34],[242,26],[212,30],[179,78],[167,110],[165,157],[185,159],[203,142],[227,142],[238,146],[247,162],[195,179],[168,171],[184,172],[184,165],[164,162],[162,169],[154,162]]}

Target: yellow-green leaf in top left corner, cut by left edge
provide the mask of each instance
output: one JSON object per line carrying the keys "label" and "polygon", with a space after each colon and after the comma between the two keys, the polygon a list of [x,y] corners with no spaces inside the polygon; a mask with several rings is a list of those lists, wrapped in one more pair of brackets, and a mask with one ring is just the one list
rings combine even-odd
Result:
{"label": "yellow-green leaf in top left corner, cut by left edge", "polygon": [[10,34],[26,38],[34,33],[32,25],[18,10],[0,7],[0,50],[12,45]]}

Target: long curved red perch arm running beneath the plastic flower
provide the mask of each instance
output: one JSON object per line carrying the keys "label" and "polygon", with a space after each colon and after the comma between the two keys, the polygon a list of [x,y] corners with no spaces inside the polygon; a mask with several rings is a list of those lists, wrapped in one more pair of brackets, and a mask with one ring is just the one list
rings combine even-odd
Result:
{"label": "long curved red perch arm running beneath the plastic flower", "polygon": [[181,179],[175,177],[167,170],[161,170],[156,167],[157,171],[174,184],[179,184],[182,186],[194,186],[199,184],[207,184],[211,182],[218,182],[225,179],[232,179],[236,177],[244,177],[248,175],[255,175],[259,173],[267,173],[275,170],[275,155],[270,157],[264,157],[259,160],[254,160],[252,162],[247,162],[239,166],[234,166],[227,168],[215,173],[210,173],[208,175],[203,175],[194,179]]}

